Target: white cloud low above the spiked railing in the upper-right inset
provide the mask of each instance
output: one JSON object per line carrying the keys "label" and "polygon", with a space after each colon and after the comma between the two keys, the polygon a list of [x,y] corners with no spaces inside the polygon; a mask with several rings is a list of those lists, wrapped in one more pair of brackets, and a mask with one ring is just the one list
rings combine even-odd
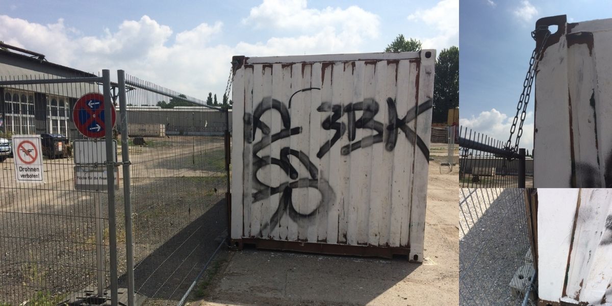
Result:
{"label": "white cloud low above the spiked railing in the upper-right inset", "polygon": [[[507,116],[504,113],[499,112],[498,110],[492,108],[490,111],[483,111],[477,117],[473,116],[469,119],[461,118],[459,119],[459,124],[468,129],[472,129],[474,132],[484,133],[487,136],[490,136],[496,140],[503,141],[506,144],[508,140],[508,136],[510,136],[510,127],[512,127],[512,120],[514,119],[514,114],[512,116]],[[469,131],[469,130],[468,130]],[[512,146],[514,146],[514,141],[516,139],[516,135],[518,132],[518,123],[517,130],[515,131],[512,137]],[[525,116],[525,122],[523,124],[523,135],[520,140],[520,147],[526,147],[531,151],[533,149],[534,143],[534,118],[533,112],[529,111]]]}

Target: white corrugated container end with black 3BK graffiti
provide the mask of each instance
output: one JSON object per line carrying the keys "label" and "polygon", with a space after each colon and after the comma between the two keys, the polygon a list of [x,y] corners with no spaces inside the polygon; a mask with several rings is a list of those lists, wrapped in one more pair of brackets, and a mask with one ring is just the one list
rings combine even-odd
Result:
{"label": "white corrugated container end with black 3BK graffiti", "polygon": [[231,237],[422,261],[435,58],[235,57]]}

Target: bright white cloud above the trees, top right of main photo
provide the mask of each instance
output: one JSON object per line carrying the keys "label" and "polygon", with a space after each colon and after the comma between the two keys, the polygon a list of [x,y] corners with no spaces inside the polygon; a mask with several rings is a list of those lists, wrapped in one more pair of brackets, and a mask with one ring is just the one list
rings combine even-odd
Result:
{"label": "bright white cloud above the trees, top right of main photo", "polygon": [[423,48],[441,50],[459,45],[459,0],[441,0],[427,10],[417,10],[408,20],[423,22],[436,29],[434,37],[417,37]]}

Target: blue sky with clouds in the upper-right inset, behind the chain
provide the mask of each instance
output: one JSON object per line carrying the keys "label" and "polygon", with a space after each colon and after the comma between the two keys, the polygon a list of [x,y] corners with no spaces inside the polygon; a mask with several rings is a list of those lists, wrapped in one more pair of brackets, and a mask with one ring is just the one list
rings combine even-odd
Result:
{"label": "blue sky with clouds in the upper-right inset, behind the chain", "polygon": [[[460,121],[506,141],[542,17],[612,17],[612,1],[471,0],[460,4]],[[533,94],[521,147],[533,147]]]}

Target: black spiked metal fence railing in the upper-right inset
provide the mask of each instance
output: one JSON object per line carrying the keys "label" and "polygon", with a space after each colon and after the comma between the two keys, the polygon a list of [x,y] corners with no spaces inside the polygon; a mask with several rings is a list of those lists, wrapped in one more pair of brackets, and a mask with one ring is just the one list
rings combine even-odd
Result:
{"label": "black spiked metal fence railing in the upper-right inset", "polygon": [[461,188],[524,188],[526,151],[509,151],[502,141],[461,127],[459,131]]}

